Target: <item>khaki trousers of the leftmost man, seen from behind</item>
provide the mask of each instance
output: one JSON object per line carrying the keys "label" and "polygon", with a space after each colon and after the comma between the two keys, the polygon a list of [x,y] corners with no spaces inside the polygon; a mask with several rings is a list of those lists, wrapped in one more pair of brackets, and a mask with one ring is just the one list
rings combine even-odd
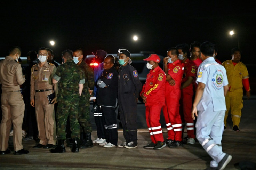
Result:
{"label": "khaki trousers of the leftmost man, seen from behind", "polygon": [[2,92],[1,96],[2,121],[0,125],[0,150],[8,149],[11,123],[13,123],[14,150],[23,149],[22,146],[22,121],[25,104],[21,92]]}

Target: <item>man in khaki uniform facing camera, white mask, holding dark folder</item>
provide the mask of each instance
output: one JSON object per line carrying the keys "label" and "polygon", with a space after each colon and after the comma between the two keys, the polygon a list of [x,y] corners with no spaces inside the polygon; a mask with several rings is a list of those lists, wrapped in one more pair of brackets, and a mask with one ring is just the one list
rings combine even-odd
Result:
{"label": "man in khaki uniform facing camera, white mask, holding dark folder", "polygon": [[57,85],[51,82],[56,72],[54,64],[47,62],[48,52],[46,48],[38,50],[39,63],[31,68],[30,80],[30,104],[35,107],[37,118],[38,135],[40,142],[33,148],[53,148],[56,144],[56,124],[54,116],[54,104],[56,97],[49,103],[48,95],[55,92],[57,96]]}

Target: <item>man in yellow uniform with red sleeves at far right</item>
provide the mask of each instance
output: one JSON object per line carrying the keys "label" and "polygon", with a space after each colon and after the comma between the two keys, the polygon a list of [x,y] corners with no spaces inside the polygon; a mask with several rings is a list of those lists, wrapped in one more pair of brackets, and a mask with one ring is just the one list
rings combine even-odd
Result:
{"label": "man in yellow uniform with red sleeves at far right", "polygon": [[224,129],[226,129],[227,116],[231,108],[231,118],[233,121],[233,130],[239,131],[239,123],[241,119],[241,109],[243,108],[243,86],[246,90],[246,96],[250,98],[249,74],[245,64],[240,62],[241,50],[239,48],[232,49],[232,59],[222,63],[227,71],[227,79],[229,81],[229,91],[226,95],[226,113],[224,118]]}

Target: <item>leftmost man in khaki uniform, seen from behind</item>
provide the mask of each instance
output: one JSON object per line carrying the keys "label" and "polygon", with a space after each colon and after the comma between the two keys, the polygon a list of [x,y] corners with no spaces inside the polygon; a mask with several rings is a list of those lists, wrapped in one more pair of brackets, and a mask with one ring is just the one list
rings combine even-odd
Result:
{"label": "leftmost man in khaki uniform, seen from behind", "polygon": [[[27,154],[22,146],[22,121],[25,104],[19,85],[25,82],[21,65],[16,61],[21,56],[21,49],[17,46],[10,49],[9,56],[0,61],[0,83],[2,84],[2,121],[0,125],[0,154],[8,154],[8,140],[13,123],[14,154]],[[16,61],[15,61],[16,60]]]}

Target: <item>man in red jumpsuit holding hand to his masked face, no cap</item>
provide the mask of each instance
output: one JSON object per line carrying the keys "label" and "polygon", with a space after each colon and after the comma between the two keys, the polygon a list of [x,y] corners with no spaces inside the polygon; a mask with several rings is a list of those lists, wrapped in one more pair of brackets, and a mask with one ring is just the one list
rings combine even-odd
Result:
{"label": "man in red jumpsuit holding hand to his masked face, no cap", "polygon": [[168,147],[180,147],[182,145],[182,121],[179,114],[179,99],[181,97],[181,79],[184,68],[178,59],[179,52],[176,48],[169,48],[167,57],[163,59],[165,81],[165,105],[163,115],[168,130]]}

